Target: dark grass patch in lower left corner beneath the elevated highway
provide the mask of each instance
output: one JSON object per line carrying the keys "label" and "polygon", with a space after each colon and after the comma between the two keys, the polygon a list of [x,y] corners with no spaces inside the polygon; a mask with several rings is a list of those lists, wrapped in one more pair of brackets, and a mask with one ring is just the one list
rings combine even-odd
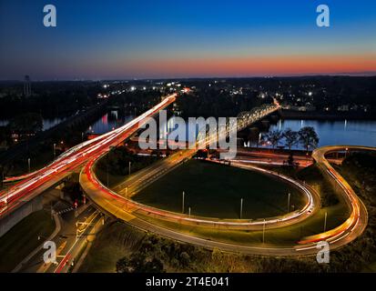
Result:
{"label": "dark grass patch in lower left corner beneath the elevated highway", "polygon": [[54,229],[55,222],[51,215],[40,210],[25,217],[0,237],[0,273],[12,271],[25,256],[41,244],[38,236],[50,236]]}

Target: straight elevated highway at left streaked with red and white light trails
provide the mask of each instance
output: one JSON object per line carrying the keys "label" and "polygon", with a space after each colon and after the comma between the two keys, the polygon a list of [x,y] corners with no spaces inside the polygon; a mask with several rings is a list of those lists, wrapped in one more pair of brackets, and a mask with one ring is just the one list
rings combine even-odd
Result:
{"label": "straight elevated highway at left streaked with red and white light trails", "polygon": [[158,114],[161,109],[172,104],[177,96],[178,94],[168,95],[158,105],[137,116],[126,125],[70,148],[64,154],[58,156],[52,164],[36,171],[31,176],[27,176],[15,186],[0,192],[0,219],[14,211],[18,206],[41,194],[47,188],[56,185],[72,171],[84,166],[89,158],[102,155],[111,146],[117,146],[127,137],[133,135],[139,129],[139,126],[146,122],[147,117]]}

